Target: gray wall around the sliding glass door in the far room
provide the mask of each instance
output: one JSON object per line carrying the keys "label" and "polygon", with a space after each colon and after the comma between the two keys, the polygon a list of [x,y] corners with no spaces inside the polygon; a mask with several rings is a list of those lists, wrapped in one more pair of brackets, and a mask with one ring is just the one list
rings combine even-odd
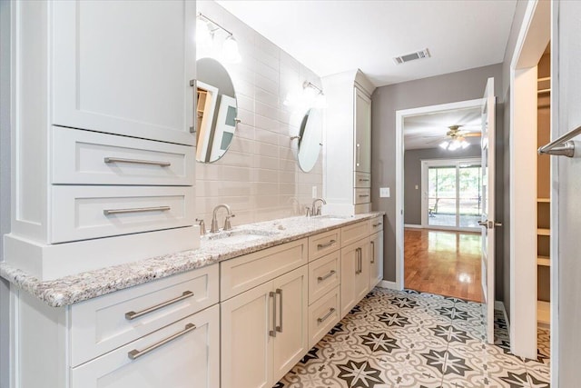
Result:
{"label": "gray wall around the sliding glass door in the far room", "polygon": [[[421,161],[425,159],[459,159],[480,157],[480,147],[470,146],[453,153],[440,147],[423,150],[406,150],[403,162],[404,223],[421,224]],[[416,190],[416,185],[418,189]]]}

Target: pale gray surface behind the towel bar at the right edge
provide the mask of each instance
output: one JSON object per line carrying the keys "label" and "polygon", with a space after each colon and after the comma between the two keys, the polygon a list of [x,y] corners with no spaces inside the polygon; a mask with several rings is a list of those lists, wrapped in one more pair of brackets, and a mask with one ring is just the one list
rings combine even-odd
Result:
{"label": "pale gray surface behind the towel bar at the right edge", "polygon": [[[581,2],[551,2],[551,138],[581,125]],[[569,136],[578,142],[576,132]],[[561,143],[561,142],[557,142]],[[559,144],[557,144],[559,145]],[[551,384],[579,384],[581,349],[581,155],[551,157]],[[555,234],[553,233],[555,231]]]}

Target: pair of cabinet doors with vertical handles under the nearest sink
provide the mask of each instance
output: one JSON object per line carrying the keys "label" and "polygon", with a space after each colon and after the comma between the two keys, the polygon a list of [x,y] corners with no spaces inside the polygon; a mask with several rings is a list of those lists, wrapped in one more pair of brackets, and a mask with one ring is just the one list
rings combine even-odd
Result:
{"label": "pair of cabinet doors with vertical handles under the nearest sink", "polygon": [[222,388],[270,388],[309,351],[307,277],[302,265],[221,303]]}

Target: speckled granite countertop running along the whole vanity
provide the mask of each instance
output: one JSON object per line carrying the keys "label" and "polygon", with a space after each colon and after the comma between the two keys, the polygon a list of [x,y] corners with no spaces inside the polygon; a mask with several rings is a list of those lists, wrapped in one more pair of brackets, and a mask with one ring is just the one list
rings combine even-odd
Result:
{"label": "speckled granite countertop running along the whole vanity", "polygon": [[[51,281],[39,281],[25,271],[5,263],[0,263],[0,276],[44,303],[61,307],[383,214],[384,212],[372,212],[350,217],[331,215],[310,218],[291,217],[234,226],[229,232],[202,236],[200,248],[195,250],[165,254],[129,264],[68,275]],[[248,234],[251,234],[250,241],[244,238],[244,235]]]}

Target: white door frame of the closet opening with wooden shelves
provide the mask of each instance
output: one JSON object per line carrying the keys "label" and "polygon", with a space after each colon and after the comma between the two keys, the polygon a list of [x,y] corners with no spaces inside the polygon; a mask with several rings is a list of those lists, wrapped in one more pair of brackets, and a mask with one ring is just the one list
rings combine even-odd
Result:
{"label": "white door frame of the closet opening with wooden shelves", "polygon": [[537,358],[537,244],[530,244],[537,236],[537,174],[516,172],[537,165],[537,136],[530,136],[530,128],[537,127],[537,64],[550,40],[550,8],[550,2],[527,4],[510,63],[510,350],[531,359]]}

